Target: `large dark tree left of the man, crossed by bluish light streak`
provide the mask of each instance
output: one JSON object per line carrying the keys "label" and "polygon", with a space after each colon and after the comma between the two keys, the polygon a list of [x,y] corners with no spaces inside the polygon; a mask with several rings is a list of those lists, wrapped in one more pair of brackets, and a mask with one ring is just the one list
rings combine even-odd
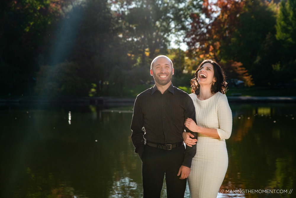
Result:
{"label": "large dark tree left of the man, crossed by bluish light streak", "polygon": [[92,96],[107,96],[113,68],[127,69],[127,50],[118,37],[115,19],[107,1],[91,0],[75,4],[59,23],[47,62],[51,66],[66,60],[77,64],[77,75],[91,89],[80,94],[91,91]]}

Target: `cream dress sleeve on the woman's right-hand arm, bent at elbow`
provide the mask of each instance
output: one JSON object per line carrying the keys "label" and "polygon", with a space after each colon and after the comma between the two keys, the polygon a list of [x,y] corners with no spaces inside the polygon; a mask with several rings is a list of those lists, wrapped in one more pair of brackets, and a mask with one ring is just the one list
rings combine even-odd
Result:
{"label": "cream dress sleeve on the woman's right-hand arm, bent at elbow", "polygon": [[217,129],[220,139],[228,139],[232,130],[232,114],[225,94],[218,99],[218,121],[219,128]]}

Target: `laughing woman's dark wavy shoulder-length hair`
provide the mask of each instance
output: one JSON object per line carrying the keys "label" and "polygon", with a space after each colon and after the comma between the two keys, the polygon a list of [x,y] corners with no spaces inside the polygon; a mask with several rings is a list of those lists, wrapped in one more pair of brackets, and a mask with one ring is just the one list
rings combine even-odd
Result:
{"label": "laughing woman's dark wavy shoulder-length hair", "polygon": [[197,82],[197,72],[200,70],[200,67],[202,67],[205,63],[210,63],[213,65],[214,68],[214,77],[217,79],[217,81],[212,85],[211,91],[213,94],[220,91],[222,94],[226,94],[227,91],[227,83],[226,83],[226,76],[221,68],[221,66],[211,59],[204,60],[202,63],[197,67],[197,70],[195,71],[194,75],[195,77],[190,80],[191,85],[191,93],[194,93],[198,95],[200,93],[200,86]]}

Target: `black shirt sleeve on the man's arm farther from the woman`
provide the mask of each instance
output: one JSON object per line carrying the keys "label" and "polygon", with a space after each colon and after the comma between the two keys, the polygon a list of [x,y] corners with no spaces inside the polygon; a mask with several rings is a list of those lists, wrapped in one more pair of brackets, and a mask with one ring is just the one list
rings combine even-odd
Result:
{"label": "black shirt sleeve on the man's arm farther from the woman", "polygon": [[139,157],[141,158],[142,153],[145,148],[145,142],[144,142],[144,131],[143,129],[143,116],[140,106],[140,99],[139,96],[137,96],[134,107],[133,107],[133,118],[131,121],[131,140],[133,142],[133,145],[135,147],[135,153],[139,154]]}

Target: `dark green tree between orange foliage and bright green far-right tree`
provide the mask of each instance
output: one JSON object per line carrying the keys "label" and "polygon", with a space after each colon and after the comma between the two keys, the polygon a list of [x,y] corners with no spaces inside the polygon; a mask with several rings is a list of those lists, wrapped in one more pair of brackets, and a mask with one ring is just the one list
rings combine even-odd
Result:
{"label": "dark green tree between orange foliage and bright green far-right tree", "polygon": [[238,13],[237,26],[220,48],[221,56],[226,60],[242,62],[244,67],[252,69],[267,35],[275,34],[275,8],[276,5],[272,3],[245,1],[244,7]]}

